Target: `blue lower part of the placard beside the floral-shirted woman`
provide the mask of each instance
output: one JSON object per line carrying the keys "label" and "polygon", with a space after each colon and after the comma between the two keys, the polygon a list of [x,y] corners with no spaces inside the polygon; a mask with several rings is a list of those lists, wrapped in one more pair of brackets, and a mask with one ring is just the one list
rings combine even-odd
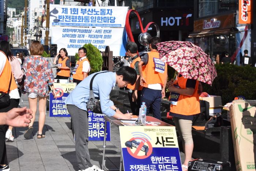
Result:
{"label": "blue lower part of the placard beside the floral-shirted woman", "polygon": [[60,96],[54,99],[52,93],[50,93],[49,117],[70,117],[64,103],[67,96],[68,93],[60,93]]}

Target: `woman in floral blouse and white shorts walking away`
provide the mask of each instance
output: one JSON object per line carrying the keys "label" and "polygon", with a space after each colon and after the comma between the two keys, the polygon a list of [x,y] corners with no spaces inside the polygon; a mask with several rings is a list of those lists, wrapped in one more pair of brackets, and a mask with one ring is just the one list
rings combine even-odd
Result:
{"label": "woman in floral blouse and white shorts walking away", "polygon": [[35,113],[37,111],[37,99],[39,99],[39,124],[37,138],[44,138],[42,130],[45,123],[45,108],[48,96],[48,85],[52,88],[52,95],[56,98],[54,90],[54,77],[50,62],[42,57],[44,47],[39,41],[34,41],[30,46],[31,56],[27,57],[23,68],[26,71],[26,79],[24,81],[24,93],[29,98],[29,108],[33,111],[33,119],[29,123],[29,129],[24,134],[28,139],[33,131],[33,123],[35,121]]}

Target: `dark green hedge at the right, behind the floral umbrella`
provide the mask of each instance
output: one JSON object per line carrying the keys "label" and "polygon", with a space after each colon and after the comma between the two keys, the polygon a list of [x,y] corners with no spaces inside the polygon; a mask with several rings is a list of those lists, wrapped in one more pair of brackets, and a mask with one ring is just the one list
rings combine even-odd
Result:
{"label": "dark green hedge at the right, behind the floral umbrella", "polygon": [[216,64],[217,77],[212,86],[202,83],[203,91],[221,96],[222,104],[244,96],[247,100],[256,99],[256,68],[233,64]]}

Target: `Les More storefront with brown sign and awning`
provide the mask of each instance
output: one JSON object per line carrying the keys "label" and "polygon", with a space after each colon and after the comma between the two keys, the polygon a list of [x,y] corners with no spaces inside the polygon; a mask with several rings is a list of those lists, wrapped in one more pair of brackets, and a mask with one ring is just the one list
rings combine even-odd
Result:
{"label": "Les More storefront with brown sign and awning", "polygon": [[239,24],[238,1],[194,1],[194,29],[189,35],[208,56],[225,53],[239,65],[244,50],[251,54],[251,24]]}

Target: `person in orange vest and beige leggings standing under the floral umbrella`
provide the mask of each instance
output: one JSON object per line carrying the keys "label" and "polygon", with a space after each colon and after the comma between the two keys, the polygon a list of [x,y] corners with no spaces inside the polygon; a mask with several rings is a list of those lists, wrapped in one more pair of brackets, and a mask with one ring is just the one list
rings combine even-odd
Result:
{"label": "person in orange vest and beige leggings standing under the floral umbrella", "polygon": [[199,81],[185,79],[181,74],[167,83],[171,91],[169,115],[173,116],[185,153],[182,171],[188,170],[188,161],[191,160],[194,147],[191,131],[194,115],[200,113],[198,85]]}

